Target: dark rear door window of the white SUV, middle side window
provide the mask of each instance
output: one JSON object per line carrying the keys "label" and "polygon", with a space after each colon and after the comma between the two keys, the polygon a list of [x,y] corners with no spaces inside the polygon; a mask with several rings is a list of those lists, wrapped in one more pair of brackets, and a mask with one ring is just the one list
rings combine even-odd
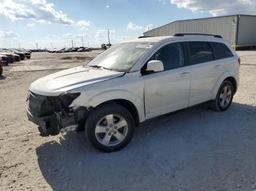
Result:
{"label": "dark rear door window of the white SUV, middle side window", "polygon": [[192,64],[214,60],[214,54],[208,42],[189,42],[189,49]]}

